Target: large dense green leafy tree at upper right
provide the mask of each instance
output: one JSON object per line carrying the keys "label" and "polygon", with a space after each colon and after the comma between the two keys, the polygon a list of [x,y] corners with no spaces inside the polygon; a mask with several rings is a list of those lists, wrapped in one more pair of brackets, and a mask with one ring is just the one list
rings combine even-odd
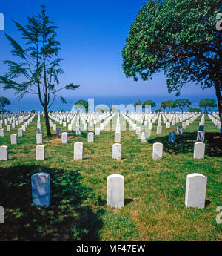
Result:
{"label": "large dense green leafy tree at upper right", "polygon": [[127,77],[151,79],[164,71],[169,93],[189,82],[215,88],[222,122],[221,0],[149,0],[129,29],[122,50]]}

